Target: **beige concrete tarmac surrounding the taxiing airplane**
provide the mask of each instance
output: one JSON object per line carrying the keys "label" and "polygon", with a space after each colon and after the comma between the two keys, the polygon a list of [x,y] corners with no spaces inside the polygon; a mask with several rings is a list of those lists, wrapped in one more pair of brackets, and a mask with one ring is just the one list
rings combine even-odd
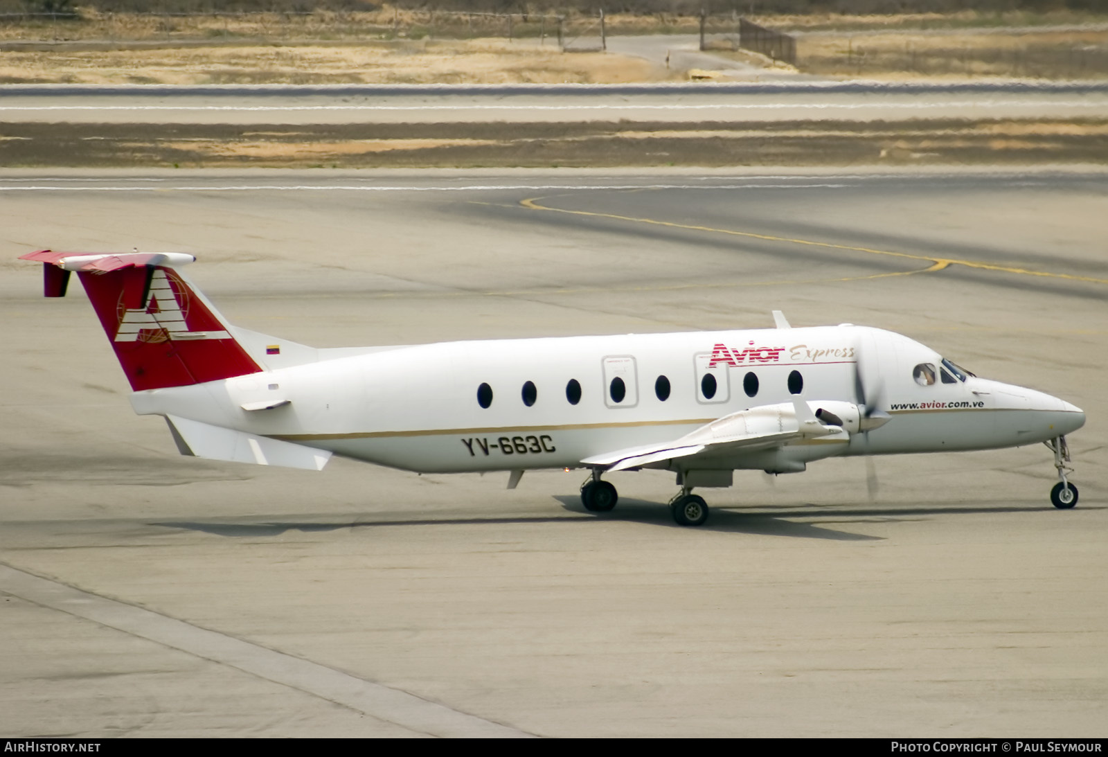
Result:
{"label": "beige concrete tarmac surrounding the taxiing airplane", "polygon": [[[1104,736],[1102,171],[0,172],[0,734]],[[855,323],[1081,407],[736,477],[182,458],[35,248],[183,250],[316,346]],[[945,265],[940,265],[944,263]]]}

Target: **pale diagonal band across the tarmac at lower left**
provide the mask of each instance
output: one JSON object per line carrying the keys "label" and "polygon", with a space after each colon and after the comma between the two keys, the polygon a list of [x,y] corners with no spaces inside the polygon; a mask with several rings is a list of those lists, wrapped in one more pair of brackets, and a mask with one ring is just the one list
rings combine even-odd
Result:
{"label": "pale diagonal band across the tarmac at lower left", "polygon": [[407,692],[370,683],[318,663],[90,594],[3,564],[0,564],[0,591],[204,659],[229,665],[417,733],[447,738],[531,736],[499,723],[421,699]]}

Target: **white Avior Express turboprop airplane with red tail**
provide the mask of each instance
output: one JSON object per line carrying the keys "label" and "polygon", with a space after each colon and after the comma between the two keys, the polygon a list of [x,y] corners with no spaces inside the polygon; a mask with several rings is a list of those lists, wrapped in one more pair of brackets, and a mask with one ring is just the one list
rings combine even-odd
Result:
{"label": "white Avior Express turboprop airplane with red tail", "polygon": [[320,470],[331,454],[418,472],[584,468],[584,507],[612,510],[609,471],[665,469],[674,520],[735,470],[803,471],[841,456],[1044,442],[1056,508],[1077,504],[1066,434],[1077,407],[977,378],[891,331],[842,324],[735,331],[315,349],[228,324],[183,253],[40,250],[45,295],[78,272],[134,390],[182,454]]}

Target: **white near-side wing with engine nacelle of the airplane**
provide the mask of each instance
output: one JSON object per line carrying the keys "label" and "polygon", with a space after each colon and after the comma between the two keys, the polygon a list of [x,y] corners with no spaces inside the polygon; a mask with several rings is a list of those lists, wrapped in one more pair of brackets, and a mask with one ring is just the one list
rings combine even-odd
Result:
{"label": "white near-side wing with engine nacelle of the airplane", "polygon": [[585,458],[581,462],[618,471],[675,458],[716,458],[814,438],[849,441],[850,434],[840,426],[824,426],[806,401],[793,397],[791,405],[763,405],[732,412],[669,442],[629,447]]}

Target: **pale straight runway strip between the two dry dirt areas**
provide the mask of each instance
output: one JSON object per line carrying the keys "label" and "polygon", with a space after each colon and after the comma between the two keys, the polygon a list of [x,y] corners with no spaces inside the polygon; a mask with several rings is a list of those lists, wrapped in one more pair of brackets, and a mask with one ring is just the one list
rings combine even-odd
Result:
{"label": "pale straight runway strip between the two dry dirt areas", "polygon": [[1102,83],[2,85],[11,123],[577,123],[1104,119]]}

